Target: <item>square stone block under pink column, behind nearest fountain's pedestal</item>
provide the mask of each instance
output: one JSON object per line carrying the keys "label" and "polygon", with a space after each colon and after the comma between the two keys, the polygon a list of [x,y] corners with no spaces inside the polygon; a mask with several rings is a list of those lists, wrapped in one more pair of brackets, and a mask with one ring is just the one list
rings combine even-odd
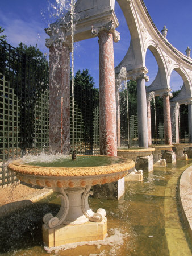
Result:
{"label": "square stone block under pink column, behind nearest fountain's pedestal", "polygon": [[99,199],[119,200],[124,195],[124,177],[118,181],[91,187],[93,197]]}

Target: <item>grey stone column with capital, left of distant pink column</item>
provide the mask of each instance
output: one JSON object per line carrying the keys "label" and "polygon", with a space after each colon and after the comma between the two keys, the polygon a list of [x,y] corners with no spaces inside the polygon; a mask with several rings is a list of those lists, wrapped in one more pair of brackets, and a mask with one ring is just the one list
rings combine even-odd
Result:
{"label": "grey stone column with capital, left of distant pink column", "polygon": [[139,147],[148,148],[147,101],[145,81],[149,77],[144,73],[136,77],[137,81],[137,119]]}

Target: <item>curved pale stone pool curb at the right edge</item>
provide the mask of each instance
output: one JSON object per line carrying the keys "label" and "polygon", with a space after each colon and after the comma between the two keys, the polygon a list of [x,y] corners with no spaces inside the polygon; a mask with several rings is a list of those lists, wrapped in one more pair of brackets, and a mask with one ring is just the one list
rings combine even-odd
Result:
{"label": "curved pale stone pool curb at the right edge", "polygon": [[[191,183],[191,184],[190,184]],[[192,238],[192,166],[188,167],[180,179],[180,201],[187,230]]]}

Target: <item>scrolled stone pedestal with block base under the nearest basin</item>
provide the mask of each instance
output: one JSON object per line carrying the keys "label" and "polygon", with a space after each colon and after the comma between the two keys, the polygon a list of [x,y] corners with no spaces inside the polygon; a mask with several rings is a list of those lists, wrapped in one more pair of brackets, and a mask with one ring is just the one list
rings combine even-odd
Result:
{"label": "scrolled stone pedestal with block base under the nearest basin", "polygon": [[43,242],[48,247],[66,243],[103,240],[107,234],[107,218],[104,209],[94,213],[88,204],[91,186],[55,188],[61,197],[57,216],[51,213],[43,217]]}

